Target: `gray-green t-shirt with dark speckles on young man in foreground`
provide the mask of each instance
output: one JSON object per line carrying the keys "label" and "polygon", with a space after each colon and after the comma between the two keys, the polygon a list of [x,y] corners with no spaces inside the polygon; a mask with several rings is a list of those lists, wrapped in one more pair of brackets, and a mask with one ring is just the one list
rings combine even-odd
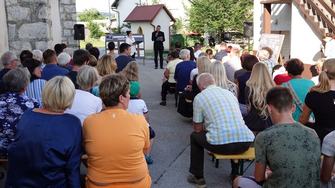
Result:
{"label": "gray-green t-shirt with dark speckles on young man in foreground", "polygon": [[320,140],[300,123],[276,124],[260,132],[255,161],[273,171],[263,187],[320,187]]}

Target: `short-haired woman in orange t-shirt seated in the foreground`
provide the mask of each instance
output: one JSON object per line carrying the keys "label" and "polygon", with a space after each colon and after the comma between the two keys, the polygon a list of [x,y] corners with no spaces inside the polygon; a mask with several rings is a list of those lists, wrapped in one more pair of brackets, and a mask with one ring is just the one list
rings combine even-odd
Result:
{"label": "short-haired woman in orange t-shirt seated in the foreground", "polygon": [[108,74],[99,85],[99,97],[107,109],[88,116],[83,135],[88,167],[86,187],[150,187],[144,153],[149,128],[139,114],[130,114],[129,82],[120,74]]}

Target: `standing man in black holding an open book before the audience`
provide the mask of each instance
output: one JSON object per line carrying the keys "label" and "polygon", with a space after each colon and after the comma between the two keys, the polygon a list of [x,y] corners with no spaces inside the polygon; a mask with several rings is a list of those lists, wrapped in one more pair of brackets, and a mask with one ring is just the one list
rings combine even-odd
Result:
{"label": "standing man in black holding an open book before the audience", "polygon": [[163,42],[165,41],[164,32],[160,31],[160,25],[157,25],[156,30],[152,32],[151,41],[154,42],[154,54],[155,54],[155,69],[158,68],[158,52],[159,52],[159,65],[163,68]]}

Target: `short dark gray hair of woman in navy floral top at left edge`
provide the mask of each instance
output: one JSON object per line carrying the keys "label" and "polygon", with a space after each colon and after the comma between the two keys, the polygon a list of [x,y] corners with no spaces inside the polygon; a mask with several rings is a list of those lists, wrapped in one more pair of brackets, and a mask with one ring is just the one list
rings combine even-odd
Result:
{"label": "short dark gray hair of woman in navy floral top at left edge", "polygon": [[6,90],[11,93],[18,93],[30,83],[30,73],[26,67],[16,67],[7,72],[3,78]]}

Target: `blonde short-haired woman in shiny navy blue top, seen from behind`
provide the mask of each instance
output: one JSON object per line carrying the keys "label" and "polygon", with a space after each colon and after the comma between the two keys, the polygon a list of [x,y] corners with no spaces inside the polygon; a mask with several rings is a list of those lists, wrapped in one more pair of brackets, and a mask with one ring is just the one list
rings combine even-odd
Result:
{"label": "blonde short-haired woman in shiny navy blue top, seen from behind", "polygon": [[75,87],[58,76],[42,91],[43,108],[24,111],[17,135],[8,147],[5,187],[80,187],[83,133],[71,107]]}

